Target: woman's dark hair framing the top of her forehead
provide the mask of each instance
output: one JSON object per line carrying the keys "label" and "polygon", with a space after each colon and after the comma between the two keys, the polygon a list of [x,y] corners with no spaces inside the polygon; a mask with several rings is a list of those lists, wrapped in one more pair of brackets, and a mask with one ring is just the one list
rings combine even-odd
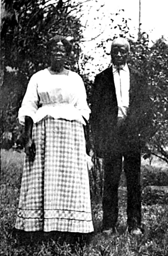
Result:
{"label": "woman's dark hair framing the top of her forehead", "polygon": [[54,45],[56,45],[56,43],[58,43],[58,42],[61,42],[64,45],[66,52],[69,55],[72,51],[72,45],[65,37],[62,37],[62,36],[55,36],[52,39],[50,39],[50,41],[48,42],[48,45],[47,45],[49,53],[52,50],[52,47]]}

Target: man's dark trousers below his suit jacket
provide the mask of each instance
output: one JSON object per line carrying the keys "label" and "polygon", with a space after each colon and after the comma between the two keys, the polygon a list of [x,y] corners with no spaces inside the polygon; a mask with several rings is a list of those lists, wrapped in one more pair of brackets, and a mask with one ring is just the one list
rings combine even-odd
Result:
{"label": "man's dark trousers below his suit jacket", "polygon": [[[123,161],[124,158],[124,161]],[[128,229],[141,225],[140,146],[116,138],[104,158],[103,229],[114,228],[118,219],[118,186],[122,168],[127,180]]]}

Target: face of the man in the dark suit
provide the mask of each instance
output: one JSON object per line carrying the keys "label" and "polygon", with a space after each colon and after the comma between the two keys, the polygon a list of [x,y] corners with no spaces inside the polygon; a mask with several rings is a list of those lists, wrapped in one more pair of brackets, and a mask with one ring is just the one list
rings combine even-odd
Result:
{"label": "face of the man in the dark suit", "polygon": [[113,65],[119,67],[121,65],[125,65],[127,63],[127,59],[129,56],[129,48],[128,45],[124,45],[121,43],[115,43],[111,48],[111,58]]}

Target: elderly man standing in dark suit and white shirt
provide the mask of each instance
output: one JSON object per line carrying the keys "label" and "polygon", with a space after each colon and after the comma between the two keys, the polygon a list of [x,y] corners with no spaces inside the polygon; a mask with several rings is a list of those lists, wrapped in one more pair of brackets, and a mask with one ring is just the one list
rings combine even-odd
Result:
{"label": "elderly man standing in dark suit and white shirt", "polygon": [[112,66],[96,75],[91,96],[94,150],[104,158],[103,232],[111,234],[118,219],[118,185],[127,179],[127,223],[131,234],[142,234],[141,146],[148,128],[148,93],[144,77],[128,67],[130,45],[112,41]]}

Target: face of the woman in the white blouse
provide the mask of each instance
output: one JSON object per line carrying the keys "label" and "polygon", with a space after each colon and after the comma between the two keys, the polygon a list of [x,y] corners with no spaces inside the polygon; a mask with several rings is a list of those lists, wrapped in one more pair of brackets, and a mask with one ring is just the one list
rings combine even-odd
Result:
{"label": "face of the woman in the white blouse", "polygon": [[66,48],[61,42],[58,42],[52,46],[50,54],[52,64],[64,64],[67,57]]}

